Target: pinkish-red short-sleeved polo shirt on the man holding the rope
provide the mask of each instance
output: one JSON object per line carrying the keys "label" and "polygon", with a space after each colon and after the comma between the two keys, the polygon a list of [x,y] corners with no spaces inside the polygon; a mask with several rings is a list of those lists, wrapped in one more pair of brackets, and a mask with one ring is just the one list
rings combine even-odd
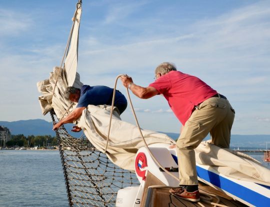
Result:
{"label": "pinkish-red short-sleeved polo shirt on the man holding the rope", "polygon": [[149,86],[164,95],[171,110],[183,125],[195,105],[217,93],[201,79],[175,70],[162,75]]}

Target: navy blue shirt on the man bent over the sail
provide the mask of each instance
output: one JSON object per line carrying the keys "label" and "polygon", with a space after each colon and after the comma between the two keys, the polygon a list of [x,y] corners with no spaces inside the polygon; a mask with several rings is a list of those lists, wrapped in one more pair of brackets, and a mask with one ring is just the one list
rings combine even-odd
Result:
{"label": "navy blue shirt on the man bent over the sail", "polygon": [[[111,105],[113,88],[103,85],[83,85],[80,88],[80,97],[78,99],[77,107],[87,107],[87,105]],[[124,95],[116,90],[114,106],[116,106],[120,113],[122,113],[126,106],[127,101]]]}

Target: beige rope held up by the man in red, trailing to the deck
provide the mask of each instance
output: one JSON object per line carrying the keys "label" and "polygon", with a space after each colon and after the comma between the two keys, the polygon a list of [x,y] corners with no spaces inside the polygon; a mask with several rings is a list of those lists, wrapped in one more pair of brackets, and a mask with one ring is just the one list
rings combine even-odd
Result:
{"label": "beige rope held up by the man in red, trailing to the deck", "polygon": [[[112,102],[111,102],[111,109],[110,109],[110,117],[109,117],[109,128],[108,128],[108,135],[107,135],[107,140],[106,140],[106,146],[105,146],[105,149],[104,149],[104,152],[103,153],[106,153],[106,149],[107,149],[107,146],[108,146],[108,140],[109,140],[109,132],[110,132],[110,126],[111,126],[111,119],[112,119],[112,111],[113,111],[113,105],[114,105],[114,98],[115,98],[115,90],[116,90],[116,85],[117,85],[117,80],[118,78],[121,76],[121,75],[124,75],[124,74],[119,74],[117,75],[117,77],[115,78],[115,82],[114,82],[114,88],[113,88],[113,95],[112,95]],[[128,91],[128,88],[126,88],[126,93],[127,93],[127,97],[128,97],[128,102],[130,104],[130,108],[132,110],[132,113],[133,113],[133,116],[134,116],[134,119],[135,119],[135,122],[136,122],[136,125],[138,127],[138,130],[139,130],[139,133],[141,135],[141,138],[144,142],[144,145],[147,149],[147,151],[149,152],[150,156],[152,157],[152,159],[155,161],[155,163],[161,168],[164,170],[164,172],[166,172],[167,174],[169,174],[170,176],[172,176],[173,178],[175,178],[176,180],[179,181],[179,178],[174,176],[174,174],[170,173],[168,170],[166,170],[160,163],[159,161],[155,158],[155,156],[152,154],[151,150],[149,149],[146,141],[145,141],[145,138],[141,132],[141,129],[140,129],[140,126],[139,126],[139,123],[138,123],[138,120],[137,120],[137,117],[136,117],[136,114],[135,114],[135,111],[134,111],[134,107],[133,107],[133,104],[132,104],[132,101],[131,101],[131,98],[130,98],[130,95],[129,95],[129,91]],[[152,186],[149,186],[149,187],[155,187],[155,188],[178,188],[179,186],[164,186],[164,185],[152,185]],[[148,188],[149,188],[148,187]],[[203,194],[204,196],[202,196],[202,200],[203,202],[206,202],[206,203],[209,203],[209,204],[212,204],[214,206],[220,206],[220,207],[228,207],[226,205],[222,205],[222,204],[219,204],[218,202],[220,201],[219,198],[216,196],[216,195],[213,195],[213,194],[210,194],[210,193],[204,193],[204,192],[201,192],[200,194]],[[212,200],[212,196],[214,196],[217,201],[216,202],[210,202],[209,200]],[[204,205],[201,203],[201,202],[197,202],[199,205],[203,206]]]}

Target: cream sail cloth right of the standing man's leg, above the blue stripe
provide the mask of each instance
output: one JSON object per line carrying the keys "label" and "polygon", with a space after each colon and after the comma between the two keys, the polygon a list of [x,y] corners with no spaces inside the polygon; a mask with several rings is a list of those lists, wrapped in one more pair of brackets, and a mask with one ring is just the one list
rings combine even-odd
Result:
{"label": "cream sail cloth right of the standing man's leg, above the blue stripe", "polygon": [[270,186],[270,169],[247,154],[220,148],[208,140],[195,148],[195,158],[196,163],[208,165],[228,177]]}

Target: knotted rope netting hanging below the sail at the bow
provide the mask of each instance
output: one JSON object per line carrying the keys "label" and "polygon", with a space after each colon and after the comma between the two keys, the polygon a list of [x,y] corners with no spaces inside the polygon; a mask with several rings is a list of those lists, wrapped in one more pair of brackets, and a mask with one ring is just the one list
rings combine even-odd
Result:
{"label": "knotted rope netting hanging below the sail at the bow", "polygon": [[[55,123],[54,111],[50,111]],[[84,136],[56,130],[69,206],[115,206],[120,188],[139,185],[135,173],[113,164]]]}

